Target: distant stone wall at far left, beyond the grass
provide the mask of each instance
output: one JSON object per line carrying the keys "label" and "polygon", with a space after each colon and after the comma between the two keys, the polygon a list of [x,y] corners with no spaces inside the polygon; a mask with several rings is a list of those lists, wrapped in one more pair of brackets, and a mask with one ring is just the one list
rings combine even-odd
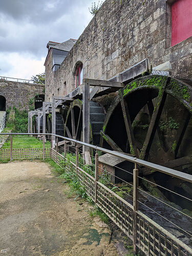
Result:
{"label": "distant stone wall at far left, beyond the grass", "polygon": [[37,94],[45,94],[43,92],[44,88],[45,86],[39,84],[0,79],[0,95],[6,98],[6,110],[13,106],[19,110],[29,110],[30,99]]}

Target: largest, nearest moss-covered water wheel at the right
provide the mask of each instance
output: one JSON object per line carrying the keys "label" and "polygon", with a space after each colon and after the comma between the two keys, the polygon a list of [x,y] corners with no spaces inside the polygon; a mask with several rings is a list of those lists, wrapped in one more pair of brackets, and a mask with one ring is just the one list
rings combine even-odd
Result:
{"label": "largest, nearest moss-covered water wheel at the right", "polygon": [[[138,78],[119,90],[100,132],[100,145],[192,174],[191,113],[189,84],[165,76]],[[191,198],[191,184],[140,167],[157,184]],[[182,206],[192,210],[186,204]]]}

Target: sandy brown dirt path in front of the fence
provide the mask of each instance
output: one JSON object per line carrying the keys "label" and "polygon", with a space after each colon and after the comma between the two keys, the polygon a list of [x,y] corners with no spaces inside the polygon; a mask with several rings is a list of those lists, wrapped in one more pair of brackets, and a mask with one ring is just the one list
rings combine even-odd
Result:
{"label": "sandy brown dirt path in front of the fence", "polygon": [[95,223],[86,202],[68,198],[47,163],[0,164],[0,191],[0,253],[117,255],[111,230]]}

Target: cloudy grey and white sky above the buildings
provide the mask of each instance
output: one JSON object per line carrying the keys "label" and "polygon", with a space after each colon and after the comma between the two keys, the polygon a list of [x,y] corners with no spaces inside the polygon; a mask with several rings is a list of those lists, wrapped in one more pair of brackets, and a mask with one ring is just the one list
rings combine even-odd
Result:
{"label": "cloudy grey and white sky above the buildings", "polygon": [[44,72],[48,41],[77,39],[93,17],[92,2],[0,0],[0,76],[30,79]]}

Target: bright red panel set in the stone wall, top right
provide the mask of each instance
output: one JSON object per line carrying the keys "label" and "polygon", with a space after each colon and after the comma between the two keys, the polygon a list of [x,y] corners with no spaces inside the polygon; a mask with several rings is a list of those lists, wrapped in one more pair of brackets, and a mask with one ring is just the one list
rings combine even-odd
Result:
{"label": "bright red panel set in the stone wall, top right", "polygon": [[177,0],[172,5],[172,46],[192,36],[192,0]]}

